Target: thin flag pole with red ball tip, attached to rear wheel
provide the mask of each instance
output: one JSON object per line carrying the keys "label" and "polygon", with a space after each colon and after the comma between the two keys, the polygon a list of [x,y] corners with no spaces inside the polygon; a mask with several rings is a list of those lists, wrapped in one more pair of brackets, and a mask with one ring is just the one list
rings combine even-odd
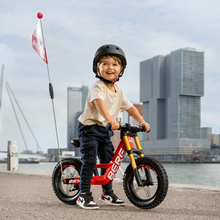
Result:
{"label": "thin flag pole with red ball tip, attached to rear wheel", "polygon": [[[56,139],[57,139],[57,146],[58,146],[58,154],[59,154],[59,160],[60,160],[60,167],[61,167],[61,171],[62,171],[61,173],[63,173],[61,155],[60,155],[59,137],[58,137],[58,131],[57,131],[56,114],[55,114],[55,107],[54,107],[54,100],[53,100],[54,99],[53,85],[52,85],[51,80],[50,80],[50,71],[49,71],[48,59],[47,59],[47,54],[46,54],[46,46],[45,46],[45,40],[44,40],[43,27],[42,27],[42,22],[41,22],[41,18],[43,18],[43,14],[41,12],[39,12],[39,13],[37,13],[37,17],[40,19],[43,47],[45,48],[45,55],[46,55],[46,61],[45,62],[46,62],[46,66],[47,66],[47,73],[48,73],[48,80],[49,80],[49,92],[50,92],[50,97],[51,97],[51,101],[52,101],[54,125],[55,125]],[[61,175],[61,177],[62,177],[62,175]]]}

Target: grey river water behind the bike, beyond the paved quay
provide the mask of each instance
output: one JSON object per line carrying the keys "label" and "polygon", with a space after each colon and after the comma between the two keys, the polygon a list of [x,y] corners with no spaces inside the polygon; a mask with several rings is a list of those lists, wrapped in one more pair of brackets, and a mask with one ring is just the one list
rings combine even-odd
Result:
{"label": "grey river water behind the bike, beyond the paved quay", "polygon": [[[56,163],[19,164],[19,172],[52,174]],[[122,163],[121,168],[125,171],[128,163]],[[170,183],[205,185],[220,187],[220,164],[207,163],[164,163]],[[7,164],[0,163],[0,170],[6,171]],[[122,179],[118,171],[116,178]]]}

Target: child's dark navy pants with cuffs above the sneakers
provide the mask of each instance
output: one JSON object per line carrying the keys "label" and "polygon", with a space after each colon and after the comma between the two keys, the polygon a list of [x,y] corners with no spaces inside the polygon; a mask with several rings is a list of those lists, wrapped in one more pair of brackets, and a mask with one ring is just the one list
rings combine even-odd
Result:
{"label": "child's dark navy pants with cuffs above the sneakers", "polygon": [[[114,155],[114,147],[110,140],[113,131],[106,131],[99,125],[83,125],[79,122],[78,136],[80,152],[82,153],[82,167],[80,173],[80,193],[90,192],[90,182],[94,173],[97,156],[100,163],[109,163]],[[106,169],[101,169],[101,175]],[[112,189],[112,184],[103,185],[103,193]]]}

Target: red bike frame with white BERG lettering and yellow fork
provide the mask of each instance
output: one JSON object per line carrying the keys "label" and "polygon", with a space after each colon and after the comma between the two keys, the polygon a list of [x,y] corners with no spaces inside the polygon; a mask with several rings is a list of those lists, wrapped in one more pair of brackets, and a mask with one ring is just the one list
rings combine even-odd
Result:
{"label": "red bike frame with white BERG lettering and yellow fork", "polygon": [[[115,154],[113,155],[110,163],[102,163],[102,164],[96,164],[95,168],[104,168],[106,169],[105,174],[104,175],[95,175],[92,177],[91,180],[91,185],[106,185],[106,184],[110,184],[113,179],[114,176],[116,175],[123,159],[124,156],[126,154],[126,152],[129,155],[130,161],[131,161],[131,165],[132,168],[134,170],[135,173],[135,178],[137,180],[138,185],[142,185],[142,181],[141,178],[139,176],[138,172],[136,171],[137,165],[134,159],[134,155],[133,152],[138,153],[140,155],[140,157],[144,157],[144,154],[142,152],[142,148],[138,139],[138,136],[134,136],[134,141],[135,144],[137,146],[137,150],[134,149],[134,144],[133,144],[133,140],[131,138],[131,136],[127,136],[127,135],[123,135],[122,139],[118,145],[118,148],[115,151]],[[80,177],[76,177],[74,178],[73,181],[71,181],[73,185],[79,185],[80,183]]]}

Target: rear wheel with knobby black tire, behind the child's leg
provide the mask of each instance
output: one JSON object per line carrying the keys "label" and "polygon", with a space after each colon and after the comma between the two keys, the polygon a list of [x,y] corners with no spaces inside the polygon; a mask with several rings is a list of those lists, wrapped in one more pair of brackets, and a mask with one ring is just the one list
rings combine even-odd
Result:
{"label": "rear wheel with knobby black tire, behind the child's leg", "polygon": [[79,185],[64,184],[64,180],[80,177],[82,162],[74,158],[66,158],[61,161],[63,168],[63,179],[61,180],[60,162],[54,168],[52,174],[52,186],[56,196],[68,205],[75,205],[79,196]]}

